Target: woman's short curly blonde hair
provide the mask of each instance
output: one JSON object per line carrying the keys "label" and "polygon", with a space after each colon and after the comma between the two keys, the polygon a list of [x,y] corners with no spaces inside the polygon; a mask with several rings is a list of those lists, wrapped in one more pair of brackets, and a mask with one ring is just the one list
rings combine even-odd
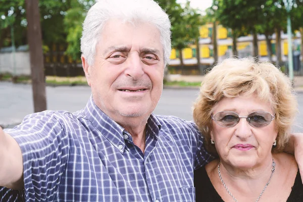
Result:
{"label": "woman's short curly blonde hair", "polygon": [[205,137],[206,148],[216,154],[210,144],[211,115],[223,97],[258,96],[269,102],[275,113],[278,131],[274,151],[282,151],[289,141],[289,131],[297,113],[297,101],[292,83],[280,69],[269,62],[254,58],[230,58],[216,65],[201,83],[200,93],[193,105],[193,119]]}

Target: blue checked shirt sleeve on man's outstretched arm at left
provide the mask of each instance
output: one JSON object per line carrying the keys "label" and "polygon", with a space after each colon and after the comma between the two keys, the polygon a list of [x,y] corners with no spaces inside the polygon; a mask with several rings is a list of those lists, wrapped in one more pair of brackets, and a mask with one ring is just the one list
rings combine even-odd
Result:
{"label": "blue checked shirt sleeve on man's outstretched arm at left", "polygon": [[19,144],[23,156],[26,201],[56,199],[68,158],[68,136],[60,115],[44,111],[28,115],[13,129],[5,130]]}

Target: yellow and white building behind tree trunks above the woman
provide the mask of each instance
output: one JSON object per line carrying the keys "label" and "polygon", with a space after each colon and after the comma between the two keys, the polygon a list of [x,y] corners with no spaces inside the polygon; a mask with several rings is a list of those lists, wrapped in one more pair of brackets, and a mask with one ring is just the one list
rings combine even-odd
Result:
{"label": "yellow and white building behind tree trunks above the woman", "polygon": [[[201,64],[212,64],[213,59],[213,44],[212,44],[212,31],[213,24],[206,24],[199,28],[199,48],[200,48],[200,62]],[[231,38],[231,30],[226,29],[222,25],[218,25],[217,27],[217,39],[218,39],[218,57],[219,61],[223,60],[232,55],[232,38]],[[264,35],[259,35],[259,57],[261,60],[267,60],[268,52],[267,52],[267,44]],[[271,40],[271,45],[273,49],[273,57],[275,58],[275,39]],[[287,38],[286,35],[282,34],[281,40],[281,50],[282,50],[282,58],[287,60],[288,48],[287,48]],[[237,50],[239,52],[239,56],[244,57],[251,55],[252,53],[252,36],[243,36],[238,38],[237,42]],[[183,61],[185,65],[193,65],[196,64],[196,46],[190,45],[187,48],[182,50]],[[171,62],[170,65],[179,65],[179,53],[178,50],[172,49],[171,53]]]}

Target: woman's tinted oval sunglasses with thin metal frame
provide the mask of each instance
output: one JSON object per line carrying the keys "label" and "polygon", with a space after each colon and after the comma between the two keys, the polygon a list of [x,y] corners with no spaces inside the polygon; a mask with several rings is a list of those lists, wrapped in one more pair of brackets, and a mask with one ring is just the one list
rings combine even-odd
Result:
{"label": "woman's tinted oval sunglasses with thin metal frame", "polygon": [[252,112],[247,116],[239,116],[237,113],[231,111],[222,111],[211,117],[218,125],[226,128],[237,125],[241,118],[245,118],[249,125],[255,128],[265,127],[275,119],[274,115],[265,111]]}

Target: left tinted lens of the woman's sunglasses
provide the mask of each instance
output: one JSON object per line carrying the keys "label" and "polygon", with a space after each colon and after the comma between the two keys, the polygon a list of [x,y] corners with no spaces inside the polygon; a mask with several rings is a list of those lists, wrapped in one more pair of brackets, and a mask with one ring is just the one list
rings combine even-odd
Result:
{"label": "left tinted lens of the woman's sunglasses", "polygon": [[235,126],[239,121],[239,116],[234,112],[223,111],[219,112],[214,117],[215,121],[223,127]]}

